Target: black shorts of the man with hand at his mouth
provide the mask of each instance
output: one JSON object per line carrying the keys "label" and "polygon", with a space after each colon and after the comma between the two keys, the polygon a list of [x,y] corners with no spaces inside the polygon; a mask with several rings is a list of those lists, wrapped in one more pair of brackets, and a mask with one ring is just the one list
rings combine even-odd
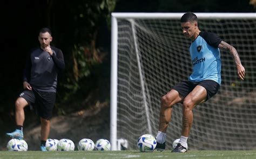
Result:
{"label": "black shorts of the man with hand at his mouth", "polygon": [[33,107],[39,117],[49,120],[55,104],[56,92],[44,92],[35,89],[24,90],[19,97],[22,97]]}

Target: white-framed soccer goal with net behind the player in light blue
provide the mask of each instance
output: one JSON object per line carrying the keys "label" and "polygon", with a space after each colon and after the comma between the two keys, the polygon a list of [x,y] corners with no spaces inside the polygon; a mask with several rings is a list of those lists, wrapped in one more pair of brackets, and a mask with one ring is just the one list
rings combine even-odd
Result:
{"label": "white-framed soccer goal with net behind the player in light blue", "polygon": [[[111,144],[123,138],[137,149],[140,135],[156,136],[160,98],[188,78],[192,62],[180,27],[183,13],[112,13]],[[232,55],[221,50],[222,82],[217,95],[193,109],[188,148],[256,149],[255,13],[196,13],[201,31],[234,46],[246,78],[241,81]],[[182,105],[173,107],[166,149],[180,138]]]}

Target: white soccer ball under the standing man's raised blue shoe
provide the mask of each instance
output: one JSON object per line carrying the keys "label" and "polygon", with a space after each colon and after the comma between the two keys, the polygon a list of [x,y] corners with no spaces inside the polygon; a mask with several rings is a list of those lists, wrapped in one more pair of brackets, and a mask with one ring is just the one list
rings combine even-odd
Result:
{"label": "white soccer ball under the standing man's raised blue shoe", "polygon": [[25,140],[19,140],[19,139],[11,139],[8,143],[6,148],[9,151],[27,151],[28,150],[28,144]]}

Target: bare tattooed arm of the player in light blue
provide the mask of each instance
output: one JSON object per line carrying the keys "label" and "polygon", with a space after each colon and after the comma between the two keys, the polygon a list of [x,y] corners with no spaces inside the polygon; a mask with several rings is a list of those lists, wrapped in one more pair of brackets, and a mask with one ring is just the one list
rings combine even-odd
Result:
{"label": "bare tattooed arm of the player in light blue", "polygon": [[245,68],[241,64],[237,50],[233,46],[227,44],[227,42],[225,42],[225,41],[220,42],[219,48],[230,52],[230,54],[233,56],[233,59],[235,61],[235,65],[237,66],[237,74],[242,80],[244,80]]}

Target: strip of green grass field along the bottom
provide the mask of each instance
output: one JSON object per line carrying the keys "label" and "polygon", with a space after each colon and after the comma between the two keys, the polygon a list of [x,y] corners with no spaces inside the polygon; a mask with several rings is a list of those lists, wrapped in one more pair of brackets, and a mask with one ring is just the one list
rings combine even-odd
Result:
{"label": "strip of green grass field along the bottom", "polygon": [[153,153],[140,153],[139,151],[0,151],[1,159],[9,158],[42,158],[42,159],[65,159],[65,158],[201,158],[201,159],[255,159],[254,151],[188,151],[188,153],[171,153],[171,151],[154,151]]}

